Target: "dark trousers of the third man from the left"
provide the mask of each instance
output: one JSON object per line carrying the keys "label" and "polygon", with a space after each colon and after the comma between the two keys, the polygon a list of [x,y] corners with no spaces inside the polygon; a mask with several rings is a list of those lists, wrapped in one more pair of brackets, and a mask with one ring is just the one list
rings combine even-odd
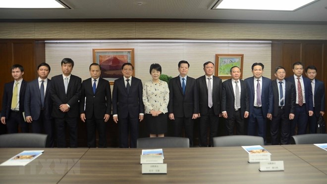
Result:
{"label": "dark trousers of the third man from the left", "polygon": [[55,118],[57,147],[66,146],[66,124],[69,131],[70,147],[77,147],[77,118]]}

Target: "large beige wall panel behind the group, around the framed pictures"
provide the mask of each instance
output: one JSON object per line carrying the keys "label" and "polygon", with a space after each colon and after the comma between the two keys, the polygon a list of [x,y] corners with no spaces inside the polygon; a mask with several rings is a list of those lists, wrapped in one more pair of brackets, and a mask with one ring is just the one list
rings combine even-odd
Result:
{"label": "large beige wall panel behind the group, around the framed pictures", "polygon": [[[271,44],[199,44],[199,43],[79,43],[79,44],[46,44],[46,62],[52,67],[50,77],[61,74],[60,62],[69,57],[74,60],[72,74],[83,80],[90,77],[89,65],[92,60],[92,48],[134,48],[135,77],[143,82],[150,80],[152,63],[162,66],[163,74],[175,77],[178,75],[178,62],[187,60],[190,63],[189,76],[198,78],[204,75],[203,63],[213,61],[215,54],[244,54],[243,79],[252,76],[251,65],[262,62],[265,71],[271,70]],[[267,76],[269,77],[270,75]]]}

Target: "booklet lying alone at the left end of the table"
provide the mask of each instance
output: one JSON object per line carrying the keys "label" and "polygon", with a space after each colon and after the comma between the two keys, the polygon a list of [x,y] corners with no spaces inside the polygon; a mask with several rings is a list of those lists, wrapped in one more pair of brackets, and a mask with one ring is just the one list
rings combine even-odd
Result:
{"label": "booklet lying alone at the left end of the table", "polygon": [[22,151],[21,153],[0,164],[0,166],[25,166],[38,156],[42,155],[43,152],[44,150]]}

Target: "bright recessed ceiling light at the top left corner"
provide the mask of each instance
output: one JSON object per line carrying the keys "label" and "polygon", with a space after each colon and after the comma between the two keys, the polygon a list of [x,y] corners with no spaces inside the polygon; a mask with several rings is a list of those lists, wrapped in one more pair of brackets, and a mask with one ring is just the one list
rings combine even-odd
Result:
{"label": "bright recessed ceiling light at the top left corner", "polygon": [[60,0],[0,0],[0,8],[69,8]]}

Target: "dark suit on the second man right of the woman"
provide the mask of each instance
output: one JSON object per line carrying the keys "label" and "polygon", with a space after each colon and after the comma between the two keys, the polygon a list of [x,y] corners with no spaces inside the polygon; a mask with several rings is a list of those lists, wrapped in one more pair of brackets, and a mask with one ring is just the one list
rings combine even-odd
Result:
{"label": "dark suit on the second man right of the woman", "polygon": [[213,106],[208,106],[208,87],[207,87],[207,76],[201,76],[197,78],[197,85],[199,89],[199,111],[200,111],[200,125],[199,125],[199,146],[206,147],[207,143],[207,132],[210,127],[209,135],[209,146],[213,146],[213,138],[218,136],[218,125],[219,125],[219,113],[220,113],[220,98],[221,98],[221,79],[213,77],[212,86],[212,99]]}

